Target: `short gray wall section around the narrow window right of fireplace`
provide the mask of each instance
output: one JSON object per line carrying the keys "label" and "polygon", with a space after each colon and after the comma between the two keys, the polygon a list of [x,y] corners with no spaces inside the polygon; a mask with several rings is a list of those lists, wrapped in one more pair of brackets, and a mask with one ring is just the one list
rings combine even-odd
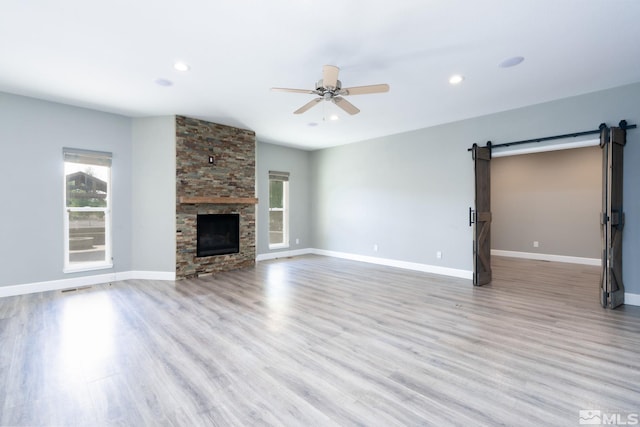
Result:
{"label": "short gray wall section around the narrow window right of fireplace", "polygon": [[[256,188],[258,195],[257,247],[258,255],[313,247],[310,237],[310,152],[264,142],[257,143]],[[269,250],[269,171],[289,172],[288,249]],[[296,244],[296,239],[300,243]]]}

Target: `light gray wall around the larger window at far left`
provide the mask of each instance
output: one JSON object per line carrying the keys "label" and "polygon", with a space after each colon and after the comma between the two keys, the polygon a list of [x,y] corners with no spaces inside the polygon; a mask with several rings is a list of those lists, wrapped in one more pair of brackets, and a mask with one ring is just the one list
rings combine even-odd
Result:
{"label": "light gray wall around the larger window at far left", "polygon": [[[0,93],[0,286],[131,269],[131,120]],[[113,153],[113,269],[64,274],[62,147]]]}

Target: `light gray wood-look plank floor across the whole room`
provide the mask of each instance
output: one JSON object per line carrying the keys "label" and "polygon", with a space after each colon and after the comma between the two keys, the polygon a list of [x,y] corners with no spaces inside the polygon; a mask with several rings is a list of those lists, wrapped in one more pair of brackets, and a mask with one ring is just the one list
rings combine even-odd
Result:
{"label": "light gray wood-look plank floor across the whole room", "polygon": [[0,299],[0,424],[571,426],[640,411],[640,310],[597,267],[494,281],[305,256]]}

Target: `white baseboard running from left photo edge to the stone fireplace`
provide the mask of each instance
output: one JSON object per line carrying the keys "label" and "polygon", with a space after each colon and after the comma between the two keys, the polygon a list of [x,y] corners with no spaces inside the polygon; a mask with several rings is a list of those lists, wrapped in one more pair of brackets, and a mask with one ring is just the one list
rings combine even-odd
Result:
{"label": "white baseboard running from left photo edge to the stone fireplace", "polygon": [[119,273],[97,274],[93,276],[73,277],[69,279],[49,280],[46,282],[25,283],[22,285],[0,286],[0,298],[36,292],[58,291],[81,288],[83,286],[116,282],[119,280],[175,280],[174,272],[165,271],[123,271]]}

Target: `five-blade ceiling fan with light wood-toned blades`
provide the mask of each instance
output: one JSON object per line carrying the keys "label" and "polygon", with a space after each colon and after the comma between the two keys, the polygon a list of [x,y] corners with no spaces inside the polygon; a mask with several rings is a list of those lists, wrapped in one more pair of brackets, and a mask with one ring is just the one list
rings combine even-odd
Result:
{"label": "five-blade ceiling fan with light wood-toned blades", "polygon": [[331,101],[349,114],[358,114],[360,110],[355,105],[343,98],[348,95],[364,95],[368,93],[382,93],[389,91],[388,84],[342,87],[342,82],[338,80],[340,69],[335,65],[325,65],[322,67],[322,80],[316,83],[314,90],[307,89],[287,89],[282,87],[272,87],[271,90],[278,92],[308,93],[318,95],[318,98],[309,101],[298,108],[293,114],[302,114],[320,101]]}

